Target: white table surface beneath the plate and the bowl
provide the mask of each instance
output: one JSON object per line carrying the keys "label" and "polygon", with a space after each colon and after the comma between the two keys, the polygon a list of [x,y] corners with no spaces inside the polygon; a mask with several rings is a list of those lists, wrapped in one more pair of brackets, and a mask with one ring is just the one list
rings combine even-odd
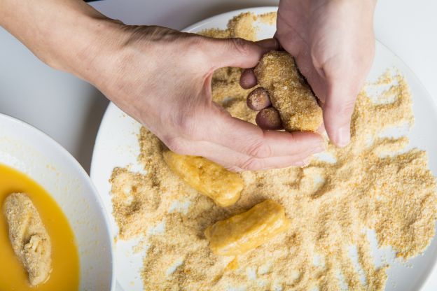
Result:
{"label": "white table surface beneath the plate and the bowl", "polygon": [[[92,6],[127,24],[183,29],[206,17],[274,0],[104,0]],[[437,103],[437,1],[380,0],[376,37],[410,66]],[[56,24],[53,24],[56,27]],[[80,61],[80,60],[78,60]],[[0,113],[38,127],[89,171],[95,135],[108,101],[94,87],[50,69],[0,28]],[[432,126],[432,125],[431,125]],[[430,132],[435,132],[433,127]],[[423,290],[437,290],[437,269]]]}

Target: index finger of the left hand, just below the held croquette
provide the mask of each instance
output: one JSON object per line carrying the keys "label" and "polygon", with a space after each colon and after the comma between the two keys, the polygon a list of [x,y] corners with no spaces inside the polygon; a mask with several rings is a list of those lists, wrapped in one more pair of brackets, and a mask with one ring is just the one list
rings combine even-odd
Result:
{"label": "index finger of the left hand, just below the held croquette", "polygon": [[202,122],[209,129],[201,134],[203,141],[211,141],[251,157],[289,156],[308,148],[314,152],[321,152],[325,148],[319,134],[263,131],[250,122],[233,118],[218,109],[214,111],[214,117],[204,118]]}

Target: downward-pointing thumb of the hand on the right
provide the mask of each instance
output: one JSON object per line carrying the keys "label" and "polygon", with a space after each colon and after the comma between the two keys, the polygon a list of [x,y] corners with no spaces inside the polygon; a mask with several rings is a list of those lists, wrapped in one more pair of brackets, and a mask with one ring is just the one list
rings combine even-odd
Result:
{"label": "downward-pointing thumb of the hand on the right", "polygon": [[338,83],[328,87],[323,106],[324,125],[329,139],[336,146],[344,147],[350,142],[350,123],[358,90]]}

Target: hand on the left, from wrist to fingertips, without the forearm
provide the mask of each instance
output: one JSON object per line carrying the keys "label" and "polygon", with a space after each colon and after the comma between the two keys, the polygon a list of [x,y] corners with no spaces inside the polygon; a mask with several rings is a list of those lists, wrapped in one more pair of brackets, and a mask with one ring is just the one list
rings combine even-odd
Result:
{"label": "hand on the left, from wrist to fingertips, without the forearm", "polygon": [[277,41],[214,39],[163,27],[122,30],[116,61],[93,83],[170,150],[239,171],[303,165],[324,149],[318,134],[263,131],[211,101],[214,70],[253,67]]}

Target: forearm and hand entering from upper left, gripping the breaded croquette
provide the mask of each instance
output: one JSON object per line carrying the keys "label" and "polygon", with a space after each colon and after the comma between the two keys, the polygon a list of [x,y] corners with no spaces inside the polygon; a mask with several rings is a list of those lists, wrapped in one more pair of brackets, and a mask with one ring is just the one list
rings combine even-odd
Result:
{"label": "forearm and hand entering from upper left, gripping the breaded croquette", "polygon": [[275,40],[129,26],[78,0],[0,0],[0,26],[49,66],[95,85],[174,152],[257,170],[303,165],[324,149],[317,134],[263,131],[211,101],[215,69],[251,68]]}

